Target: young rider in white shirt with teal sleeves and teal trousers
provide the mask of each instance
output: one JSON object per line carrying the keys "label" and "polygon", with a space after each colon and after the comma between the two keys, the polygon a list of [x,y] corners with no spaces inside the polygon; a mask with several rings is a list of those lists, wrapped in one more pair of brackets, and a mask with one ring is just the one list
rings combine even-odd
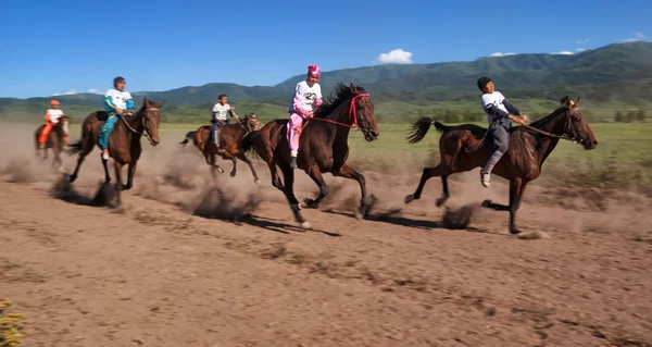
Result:
{"label": "young rider in white shirt with teal sleeves and teal trousers", "polygon": [[134,109],[134,99],[131,94],[125,91],[125,85],[127,82],[123,77],[113,78],[113,88],[106,90],[104,95],[104,110],[109,113],[106,122],[102,125],[100,138],[98,140],[100,148],[102,149],[102,159],[109,160],[109,136],[117,122],[117,116],[121,114],[133,115],[136,111]]}

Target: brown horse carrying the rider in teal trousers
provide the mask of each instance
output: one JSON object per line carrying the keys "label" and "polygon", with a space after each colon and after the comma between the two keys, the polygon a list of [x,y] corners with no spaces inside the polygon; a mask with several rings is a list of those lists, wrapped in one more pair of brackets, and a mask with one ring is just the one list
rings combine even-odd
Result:
{"label": "brown horse carrying the rider in teal trousers", "polygon": [[[115,189],[117,190],[117,202],[120,205],[120,191],[128,190],[134,186],[134,175],[136,174],[136,164],[142,153],[140,137],[145,135],[152,146],[159,145],[159,124],[161,114],[159,109],[165,101],[153,103],[147,100],[142,101],[142,107],[133,116],[118,115],[120,120],[115,123],[113,132],[109,137],[109,156],[113,158],[115,165]],[[82,124],[82,139],[73,145],[68,145],[66,152],[71,156],[79,153],[75,172],[70,176],[70,182],[75,182],[79,174],[79,168],[84,159],[92,148],[98,144],[100,131],[108,117],[106,111],[97,111],[89,114],[84,124]],[[129,165],[127,174],[127,184],[122,184],[122,166]],[[111,182],[106,160],[102,159],[104,168],[104,181]]]}

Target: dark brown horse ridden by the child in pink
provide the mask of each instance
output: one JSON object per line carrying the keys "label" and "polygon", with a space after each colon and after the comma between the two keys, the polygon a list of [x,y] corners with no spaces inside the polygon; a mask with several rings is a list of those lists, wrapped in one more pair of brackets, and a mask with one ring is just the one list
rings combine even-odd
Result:
{"label": "dark brown horse ridden by the child in pink", "polygon": [[[242,148],[255,150],[267,163],[272,174],[272,185],[281,190],[294,219],[302,227],[310,223],[300,213],[299,201],[294,197],[294,171],[290,166],[290,147],[287,139],[287,120],[275,120],[259,132],[252,132],[242,139]],[[374,117],[374,103],[364,88],[338,84],[336,92],[314,112],[314,117],[304,123],[301,133],[297,163],[319,186],[319,195],[315,199],[305,199],[309,208],[316,209],[328,195],[328,186],[323,173],[358,181],[362,191],[360,214],[368,211],[366,185],[364,176],[347,164],[349,157],[349,131],[359,127],[367,141],[378,138],[380,132]],[[276,165],[280,168],[284,183],[280,182]]]}

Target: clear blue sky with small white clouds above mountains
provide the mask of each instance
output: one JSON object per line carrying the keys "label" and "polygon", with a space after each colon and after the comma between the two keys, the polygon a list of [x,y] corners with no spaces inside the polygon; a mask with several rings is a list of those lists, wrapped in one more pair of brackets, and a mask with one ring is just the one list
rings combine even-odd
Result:
{"label": "clear blue sky with small white clouds above mountains", "polygon": [[648,40],[651,16],[649,0],[2,1],[0,97],[104,91],[116,75],[131,91],[274,85],[311,63],[365,66],[383,53],[412,63],[575,53]]}

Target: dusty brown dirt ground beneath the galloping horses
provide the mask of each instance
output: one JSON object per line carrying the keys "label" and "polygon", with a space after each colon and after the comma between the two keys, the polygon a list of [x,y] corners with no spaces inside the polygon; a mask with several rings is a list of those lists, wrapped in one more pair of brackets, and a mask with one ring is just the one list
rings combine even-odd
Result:
{"label": "dusty brown dirt ground beneath the galloping horses", "polygon": [[364,171],[369,220],[353,215],[358,184],[327,175],[303,231],[266,166],[255,186],[223,162],[213,183],[195,148],[175,147],[183,133],[143,141],[122,209],[88,203],[97,150],[55,196],[32,131],[0,132],[0,297],[27,315],[26,346],[652,346],[652,201],[635,194],[534,185],[519,238],[506,212],[477,208],[506,201],[500,178],[451,183],[451,211],[473,214],[450,230],[437,178],[402,202],[422,168]]}

